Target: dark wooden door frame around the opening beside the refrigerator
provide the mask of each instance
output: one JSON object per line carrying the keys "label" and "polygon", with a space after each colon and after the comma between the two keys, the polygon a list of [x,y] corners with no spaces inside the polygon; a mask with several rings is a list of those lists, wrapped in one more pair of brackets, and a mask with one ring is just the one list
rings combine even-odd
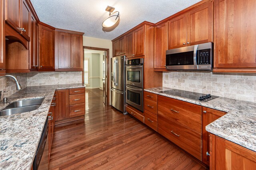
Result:
{"label": "dark wooden door frame around the opening beside the refrigerator", "polygon": [[[89,49],[89,50],[99,50],[99,51],[106,51],[106,56],[107,56],[107,59],[106,59],[106,80],[107,80],[107,84],[106,84],[106,90],[107,90],[107,102],[106,102],[106,105],[109,106],[110,105],[110,102],[109,102],[109,89],[110,89],[110,78],[109,78],[109,49],[104,49],[104,48],[98,48],[98,47],[88,47],[88,46],[84,46],[83,49]],[[84,59],[83,59],[84,60]],[[84,71],[82,72],[82,82],[84,84]]]}

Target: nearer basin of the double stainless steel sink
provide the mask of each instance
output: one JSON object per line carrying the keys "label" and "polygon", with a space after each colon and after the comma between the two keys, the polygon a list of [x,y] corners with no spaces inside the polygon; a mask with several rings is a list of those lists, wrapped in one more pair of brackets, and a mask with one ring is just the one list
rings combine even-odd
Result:
{"label": "nearer basin of the double stainless steel sink", "polygon": [[28,111],[36,110],[40,107],[40,105],[32,105],[32,106],[23,106],[23,107],[16,107],[11,109],[5,109],[0,111],[0,116],[6,116],[6,115],[14,115],[17,113],[24,113]]}

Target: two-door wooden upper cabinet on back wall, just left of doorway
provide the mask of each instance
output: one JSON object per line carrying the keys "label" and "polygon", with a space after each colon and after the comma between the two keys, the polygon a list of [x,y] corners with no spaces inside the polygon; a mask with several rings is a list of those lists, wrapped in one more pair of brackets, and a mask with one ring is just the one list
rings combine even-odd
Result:
{"label": "two-door wooden upper cabinet on back wall, just left of doorway", "polygon": [[56,29],[55,31],[55,69],[83,69],[84,33]]}

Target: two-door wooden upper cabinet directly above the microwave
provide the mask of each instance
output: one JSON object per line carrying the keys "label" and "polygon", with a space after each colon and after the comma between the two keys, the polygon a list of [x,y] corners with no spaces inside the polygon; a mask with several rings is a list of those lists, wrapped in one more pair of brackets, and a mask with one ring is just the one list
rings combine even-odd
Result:
{"label": "two-door wooden upper cabinet directly above the microwave", "polygon": [[213,2],[169,21],[168,49],[213,41]]}

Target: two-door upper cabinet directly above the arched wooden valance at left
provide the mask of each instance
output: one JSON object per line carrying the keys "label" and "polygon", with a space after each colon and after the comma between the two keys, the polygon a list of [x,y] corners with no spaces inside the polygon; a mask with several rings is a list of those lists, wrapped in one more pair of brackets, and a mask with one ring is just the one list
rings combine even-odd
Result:
{"label": "two-door upper cabinet directly above the arched wooden valance at left", "polygon": [[26,0],[6,0],[6,22],[30,41],[30,8]]}

